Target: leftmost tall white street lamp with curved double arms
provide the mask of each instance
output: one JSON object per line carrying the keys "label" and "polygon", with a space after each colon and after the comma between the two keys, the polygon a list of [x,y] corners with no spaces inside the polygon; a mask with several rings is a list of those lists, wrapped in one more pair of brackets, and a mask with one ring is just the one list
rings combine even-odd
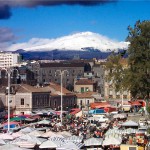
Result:
{"label": "leftmost tall white street lamp with curved double arms", "polygon": [[8,96],[7,96],[7,107],[8,107],[8,125],[7,125],[7,132],[9,133],[10,132],[10,76],[11,76],[11,73],[13,73],[14,70],[17,71],[17,75],[19,74],[18,73],[18,70],[15,69],[15,68],[2,68],[1,70],[5,70],[6,73],[7,73],[7,76],[8,76]]}

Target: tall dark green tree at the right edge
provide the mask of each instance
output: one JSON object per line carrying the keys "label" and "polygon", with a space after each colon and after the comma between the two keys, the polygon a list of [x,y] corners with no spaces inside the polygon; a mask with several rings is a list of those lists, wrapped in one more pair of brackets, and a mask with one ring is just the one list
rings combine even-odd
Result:
{"label": "tall dark green tree at the right edge", "polygon": [[128,27],[128,85],[132,96],[149,98],[150,92],[150,21],[137,21]]}

